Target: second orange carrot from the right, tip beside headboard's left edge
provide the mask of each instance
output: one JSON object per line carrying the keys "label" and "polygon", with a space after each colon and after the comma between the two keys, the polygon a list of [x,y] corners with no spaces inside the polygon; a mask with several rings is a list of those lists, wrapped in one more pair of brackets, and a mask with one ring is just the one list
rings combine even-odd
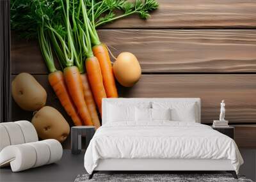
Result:
{"label": "second orange carrot from the right, tip beside headboard's left edge", "polygon": [[100,64],[95,56],[88,57],[85,60],[85,67],[88,75],[88,80],[92,88],[94,100],[97,103],[100,114],[102,114],[101,103],[102,98],[106,98],[106,92],[102,82],[102,75],[100,71]]}

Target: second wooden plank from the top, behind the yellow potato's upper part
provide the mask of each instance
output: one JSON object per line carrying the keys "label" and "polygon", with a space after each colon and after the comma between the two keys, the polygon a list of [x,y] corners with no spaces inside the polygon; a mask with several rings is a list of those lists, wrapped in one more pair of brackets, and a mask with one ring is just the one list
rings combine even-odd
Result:
{"label": "second wooden plank from the top, behind the yellow potato's upper part", "polygon": [[[256,30],[100,30],[99,36],[114,55],[135,54],[143,73],[256,73]],[[36,42],[13,39],[12,73],[20,72],[47,73]]]}

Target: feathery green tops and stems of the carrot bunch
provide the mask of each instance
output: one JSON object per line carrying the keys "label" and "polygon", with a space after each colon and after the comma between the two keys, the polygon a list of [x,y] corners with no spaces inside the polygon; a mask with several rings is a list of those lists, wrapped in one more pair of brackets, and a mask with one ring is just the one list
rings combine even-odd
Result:
{"label": "feathery green tops and stems of the carrot bunch", "polygon": [[[52,50],[62,69],[75,64],[83,72],[84,58],[100,44],[98,26],[132,13],[147,19],[157,7],[156,0],[11,0],[11,28],[22,37],[38,38],[50,72],[56,70]],[[123,13],[116,15],[116,10]]]}

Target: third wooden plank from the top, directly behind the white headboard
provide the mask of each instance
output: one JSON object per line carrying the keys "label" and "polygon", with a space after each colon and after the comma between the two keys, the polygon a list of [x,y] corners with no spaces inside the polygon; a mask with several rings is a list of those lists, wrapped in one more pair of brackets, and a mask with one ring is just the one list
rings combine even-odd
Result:
{"label": "third wooden plank from the top, directly behind the white headboard", "polygon": [[[46,75],[35,75],[47,91],[47,105],[55,107],[72,123],[48,84]],[[125,98],[201,98],[202,123],[218,119],[220,102],[225,99],[226,119],[230,123],[256,123],[256,75],[143,75],[131,88],[118,86]],[[29,119],[15,103],[12,119]]]}

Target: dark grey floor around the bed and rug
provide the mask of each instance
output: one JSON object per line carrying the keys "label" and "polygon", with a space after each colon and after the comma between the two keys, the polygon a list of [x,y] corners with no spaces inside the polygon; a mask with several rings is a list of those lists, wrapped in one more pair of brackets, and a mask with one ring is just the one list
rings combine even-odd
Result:
{"label": "dark grey floor around the bed and rug", "polygon": [[[244,164],[241,166],[239,173],[255,181],[256,149],[240,149],[240,151]],[[27,171],[12,172],[10,167],[0,169],[0,181],[74,181],[78,174],[86,173],[83,165],[84,151],[79,155],[72,155],[70,152],[70,150],[64,150],[63,157],[57,163]]]}

